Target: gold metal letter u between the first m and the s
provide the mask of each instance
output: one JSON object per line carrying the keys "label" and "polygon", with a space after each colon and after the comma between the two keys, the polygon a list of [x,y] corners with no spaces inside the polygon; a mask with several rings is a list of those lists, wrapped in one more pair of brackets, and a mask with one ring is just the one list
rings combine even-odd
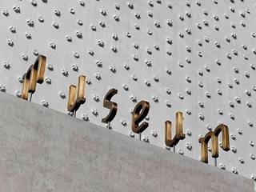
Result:
{"label": "gold metal letter u between the first m and the s", "polygon": [[80,75],[78,78],[78,87],[71,85],[67,110],[70,112],[77,111],[78,108],[86,102],[85,98],[86,76]]}

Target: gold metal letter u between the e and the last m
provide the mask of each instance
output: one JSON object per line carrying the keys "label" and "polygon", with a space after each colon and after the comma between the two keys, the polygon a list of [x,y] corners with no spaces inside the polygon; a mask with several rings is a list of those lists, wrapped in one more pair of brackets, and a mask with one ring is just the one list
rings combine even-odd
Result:
{"label": "gold metal letter u between the e and the last m", "polygon": [[180,140],[186,138],[186,135],[183,134],[183,115],[182,112],[176,113],[176,134],[174,138],[172,138],[172,131],[171,131],[171,122],[165,122],[165,141],[166,146],[176,146]]}

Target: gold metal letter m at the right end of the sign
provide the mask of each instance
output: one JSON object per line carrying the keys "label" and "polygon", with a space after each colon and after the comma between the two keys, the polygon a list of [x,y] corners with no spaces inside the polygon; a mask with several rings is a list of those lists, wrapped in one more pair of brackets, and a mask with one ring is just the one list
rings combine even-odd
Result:
{"label": "gold metal letter m at the right end of the sign", "polygon": [[214,131],[209,131],[204,138],[199,138],[199,142],[201,143],[201,162],[208,163],[208,142],[211,139],[211,148],[212,148],[212,157],[218,158],[218,134],[222,132],[222,149],[230,150],[230,135],[229,128],[220,124],[215,128]]}

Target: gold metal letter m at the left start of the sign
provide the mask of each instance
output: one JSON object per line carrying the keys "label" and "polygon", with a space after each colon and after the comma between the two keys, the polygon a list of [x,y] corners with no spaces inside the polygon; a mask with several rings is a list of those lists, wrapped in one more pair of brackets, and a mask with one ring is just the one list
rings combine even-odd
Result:
{"label": "gold metal letter m at the left start of the sign", "polygon": [[26,74],[23,75],[23,86],[21,98],[27,100],[28,94],[34,94],[37,82],[42,84],[46,71],[46,57],[38,55],[34,65],[30,66]]}

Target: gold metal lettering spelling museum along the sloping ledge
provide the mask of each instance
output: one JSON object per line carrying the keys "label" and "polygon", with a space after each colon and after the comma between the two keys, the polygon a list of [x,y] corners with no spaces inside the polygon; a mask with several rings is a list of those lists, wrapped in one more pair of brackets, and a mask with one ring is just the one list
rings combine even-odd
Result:
{"label": "gold metal lettering spelling museum along the sloping ledge", "polygon": [[[21,98],[27,100],[29,93],[32,95],[36,90],[36,84],[44,81],[46,70],[46,57],[40,54],[35,60],[34,64],[23,75],[22,95]],[[85,98],[86,76],[80,75],[78,78],[78,86],[71,85],[69,87],[69,98],[67,103],[67,110],[76,112],[79,107],[86,102]],[[118,90],[111,89],[106,93],[103,100],[103,107],[110,110],[106,118],[102,118],[102,122],[110,123],[114,120],[118,112],[118,104],[111,102],[111,98],[118,94]],[[142,100],[134,107],[132,113],[131,128],[136,134],[141,134],[149,126],[148,122],[142,122],[150,111],[150,103]],[[142,123],[141,123],[142,122]],[[178,111],[176,113],[176,133],[172,137],[172,122],[165,122],[165,142],[166,146],[174,147],[180,140],[186,138],[183,134],[183,114]],[[208,142],[211,140],[212,157],[218,158],[218,134],[222,133],[222,149],[230,150],[229,129],[226,125],[220,124],[214,131],[210,130],[204,138],[199,138],[201,143],[201,161],[208,163]]]}

